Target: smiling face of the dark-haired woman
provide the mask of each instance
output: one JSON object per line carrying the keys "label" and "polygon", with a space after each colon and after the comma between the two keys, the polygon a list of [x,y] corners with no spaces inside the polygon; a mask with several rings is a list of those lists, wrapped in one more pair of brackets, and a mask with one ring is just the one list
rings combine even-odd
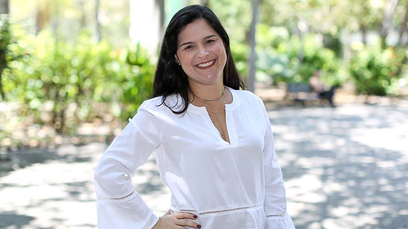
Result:
{"label": "smiling face of the dark-haired woman", "polygon": [[205,20],[193,21],[179,34],[175,59],[190,83],[222,84],[226,62],[224,43]]}

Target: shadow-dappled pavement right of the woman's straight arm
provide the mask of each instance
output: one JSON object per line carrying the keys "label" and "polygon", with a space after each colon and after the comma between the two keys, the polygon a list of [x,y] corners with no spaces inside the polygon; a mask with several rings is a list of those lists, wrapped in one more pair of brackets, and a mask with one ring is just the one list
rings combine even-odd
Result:
{"label": "shadow-dappled pavement right of the woman's straight arm", "polygon": [[296,228],[408,228],[408,109],[269,114]]}

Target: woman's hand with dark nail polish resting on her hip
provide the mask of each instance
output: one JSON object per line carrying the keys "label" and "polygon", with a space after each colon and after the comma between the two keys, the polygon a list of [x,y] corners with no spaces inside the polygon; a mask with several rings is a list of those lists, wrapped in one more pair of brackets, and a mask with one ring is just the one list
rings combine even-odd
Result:
{"label": "woman's hand with dark nail polish resting on her hip", "polygon": [[156,225],[151,229],[185,229],[184,226],[201,228],[201,225],[187,219],[195,220],[197,216],[191,213],[179,212],[174,215],[164,214],[159,217]]}

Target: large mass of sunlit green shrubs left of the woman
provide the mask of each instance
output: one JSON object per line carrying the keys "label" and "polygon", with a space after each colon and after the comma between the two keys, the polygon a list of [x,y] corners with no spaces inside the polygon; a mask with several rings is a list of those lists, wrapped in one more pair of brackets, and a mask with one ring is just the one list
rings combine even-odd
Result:
{"label": "large mass of sunlit green shrubs left of the woman", "polygon": [[[19,33],[18,42],[9,45],[10,56],[20,58],[8,59],[5,92],[35,123],[68,132],[100,115],[95,102],[109,103],[113,115],[126,120],[151,94],[155,67],[139,46],[115,49],[106,41],[93,42],[87,33],[73,42],[47,31]],[[52,114],[50,120],[41,118],[44,111]]]}

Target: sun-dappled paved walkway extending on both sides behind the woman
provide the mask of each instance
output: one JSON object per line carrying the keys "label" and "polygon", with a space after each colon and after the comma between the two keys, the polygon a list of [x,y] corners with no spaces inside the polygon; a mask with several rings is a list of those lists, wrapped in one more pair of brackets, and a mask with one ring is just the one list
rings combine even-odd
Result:
{"label": "sun-dappled paved walkway extending on both sides behind the woman", "polygon": [[[292,107],[269,115],[297,229],[408,228],[408,108]],[[67,145],[0,162],[0,228],[96,228],[92,178],[106,147]],[[154,157],[134,183],[157,215],[167,211],[170,193]]]}

